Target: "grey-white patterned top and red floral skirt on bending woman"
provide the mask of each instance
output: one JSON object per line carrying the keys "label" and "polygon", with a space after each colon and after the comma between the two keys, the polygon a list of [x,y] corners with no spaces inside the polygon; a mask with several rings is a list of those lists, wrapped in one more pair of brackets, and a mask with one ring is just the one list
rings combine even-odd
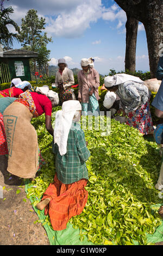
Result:
{"label": "grey-white patterned top and red floral skirt on bending woman", "polygon": [[120,108],[127,113],[127,122],[129,126],[138,129],[144,135],[154,130],[149,100],[151,92],[140,83],[128,81],[120,84],[116,92],[120,97]]}

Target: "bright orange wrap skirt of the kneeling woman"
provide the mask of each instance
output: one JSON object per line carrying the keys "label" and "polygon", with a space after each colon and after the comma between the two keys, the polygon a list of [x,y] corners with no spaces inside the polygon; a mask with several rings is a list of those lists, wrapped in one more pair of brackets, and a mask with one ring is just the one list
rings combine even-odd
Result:
{"label": "bright orange wrap skirt of the kneeling woman", "polygon": [[64,184],[58,180],[55,173],[54,182],[49,185],[41,199],[52,198],[45,208],[45,215],[49,214],[54,230],[66,229],[70,218],[82,213],[88,196],[84,188],[86,184],[86,179]]}

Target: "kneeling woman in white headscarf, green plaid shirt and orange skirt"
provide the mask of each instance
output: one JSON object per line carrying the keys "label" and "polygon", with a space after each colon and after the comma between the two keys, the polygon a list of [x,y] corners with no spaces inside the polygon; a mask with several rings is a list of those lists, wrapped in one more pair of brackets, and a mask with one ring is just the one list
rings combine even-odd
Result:
{"label": "kneeling woman in white headscarf, green plaid shirt and orange skirt", "polygon": [[54,230],[66,228],[72,216],[79,215],[87,202],[88,172],[85,161],[90,157],[84,132],[77,123],[82,106],[70,100],[62,104],[55,117],[54,142],[56,173],[37,208],[49,214]]}

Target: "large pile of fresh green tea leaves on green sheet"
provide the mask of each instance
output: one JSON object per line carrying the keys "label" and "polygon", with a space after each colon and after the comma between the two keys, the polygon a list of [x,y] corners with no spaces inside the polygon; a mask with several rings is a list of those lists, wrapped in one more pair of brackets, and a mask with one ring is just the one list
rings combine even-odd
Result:
{"label": "large pile of fresh green tea leaves on green sheet", "polygon": [[[55,111],[60,107],[55,108]],[[54,118],[53,118],[54,121]],[[43,159],[47,162],[32,181],[27,197],[34,206],[40,201],[55,174],[52,136],[45,129],[45,116],[35,118],[34,125]],[[158,214],[162,200],[155,189],[161,158],[156,143],[148,142],[126,124],[111,120],[111,132],[84,130],[91,156],[86,162],[89,193],[79,216],[72,217],[74,228],[97,245],[146,245],[147,234],[161,224]],[[48,223],[49,217],[42,224]]]}

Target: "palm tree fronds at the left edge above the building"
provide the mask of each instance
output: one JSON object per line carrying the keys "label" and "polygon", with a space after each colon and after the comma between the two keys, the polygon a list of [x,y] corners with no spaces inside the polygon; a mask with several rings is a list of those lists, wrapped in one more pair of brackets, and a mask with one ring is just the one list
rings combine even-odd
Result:
{"label": "palm tree fronds at the left edge above the building", "polygon": [[12,7],[8,7],[0,11],[0,44],[4,46],[12,45],[14,39],[18,40],[17,34],[10,33],[8,29],[8,25],[12,25],[17,32],[20,30],[17,23],[9,17],[12,13],[14,13],[14,9],[12,9]]}

